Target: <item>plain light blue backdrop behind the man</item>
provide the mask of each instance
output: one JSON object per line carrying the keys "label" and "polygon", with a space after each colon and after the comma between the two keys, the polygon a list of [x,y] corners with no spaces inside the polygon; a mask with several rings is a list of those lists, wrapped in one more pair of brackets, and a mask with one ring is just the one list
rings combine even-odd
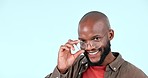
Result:
{"label": "plain light blue backdrop behind the man", "polygon": [[112,51],[148,75],[148,0],[0,0],[0,78],[44,78],[92,10],[109,17]]}

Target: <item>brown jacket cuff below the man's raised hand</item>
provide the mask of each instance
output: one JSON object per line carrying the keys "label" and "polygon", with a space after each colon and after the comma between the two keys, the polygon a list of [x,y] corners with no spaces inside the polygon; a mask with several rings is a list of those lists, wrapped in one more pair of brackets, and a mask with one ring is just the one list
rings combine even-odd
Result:
{"label": "brown jacket cuff below the man's raised hand", "polygon": [[67,78],[68,76],[68,71],[65,74],[61,74],[56,67],[52,73],[47,75],[45,78]]}

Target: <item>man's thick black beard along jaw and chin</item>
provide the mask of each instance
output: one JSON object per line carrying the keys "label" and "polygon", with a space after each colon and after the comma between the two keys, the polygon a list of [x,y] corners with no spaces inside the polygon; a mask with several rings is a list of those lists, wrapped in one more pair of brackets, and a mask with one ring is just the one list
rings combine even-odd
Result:
{"label": "man's thick black beard along jaw and chin", "polygon": [[98,62],[91,62],[89,57],[88,57],[88,52],[85,50],[84,55],[87,58],[88,65],[89,66],[101,66],[101,64],[104,62],[106,56],[111,51],[110,46],[111,46],[110,41],[108,41],[105,48],[98,48],[99,51],[103,52],[103,54],[101,55],[101,58],[100,58],[100,60]]}

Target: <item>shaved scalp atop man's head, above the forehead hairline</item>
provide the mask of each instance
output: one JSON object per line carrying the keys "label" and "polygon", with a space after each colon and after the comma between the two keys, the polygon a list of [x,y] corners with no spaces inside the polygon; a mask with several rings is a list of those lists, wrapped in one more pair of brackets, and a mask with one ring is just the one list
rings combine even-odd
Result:
{"label": "shaved scalp atop man's head, above the forehead hairline", "polygon": [[79,25],[86,24],[87,22],[91,22],[92,24],[95,24],[98,21],[103,22],[105,26],[110,29],[110,23],[109,23],[108,17],[105,14],[98,11],[91,11],[86,13],[81,18]]}

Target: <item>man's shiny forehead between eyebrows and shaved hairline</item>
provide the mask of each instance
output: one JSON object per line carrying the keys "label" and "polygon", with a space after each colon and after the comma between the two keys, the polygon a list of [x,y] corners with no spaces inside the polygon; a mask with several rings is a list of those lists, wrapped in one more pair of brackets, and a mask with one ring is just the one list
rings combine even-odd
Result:
{"label": "man's shiny forehead between eyebrows and shaved hairline", "polygon": [[102,35],[107,27],[103,21],[84,22],[79,24],[78,35],[79,38],[91,38],[95,35]]}

